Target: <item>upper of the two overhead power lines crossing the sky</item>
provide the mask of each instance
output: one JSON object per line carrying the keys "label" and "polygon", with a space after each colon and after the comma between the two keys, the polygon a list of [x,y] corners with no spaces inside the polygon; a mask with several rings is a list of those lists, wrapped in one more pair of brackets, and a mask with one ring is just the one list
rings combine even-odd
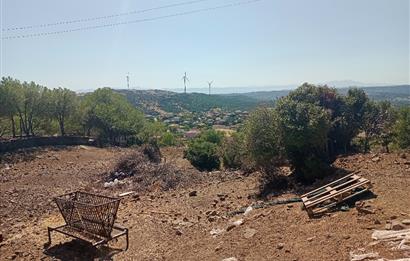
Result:
{"label": "upper of the two overhead power lines crossing the sky", "polygon": [[161,9],[167,9],[167,8],[172,8],[172,7],[192,5],[192,4],[196,4],[196,3],[200,3],[200,2],[206,2],[206,1],[209,1],[209,0],[192,0],[192,1],[186,1],[186,2],[180,2],[180,3],[169,4],[169,5],[152,7],[152,8],[148,8],[148,9],[133,10],[133,11],[118,13],[118,14],[96,16],[96,17],[89,17],[89,18],[81,18],[81,19],[75,19],[75,20],[66,20],[66,21],[59,21],[59,22],[47,23],[47,24],[9,27],[9,28],[2,29],[2,31],[17,31],[17,30],[51,27],[51,26],[57,26],[57,25],[82,23],[82,22],[92,22],[92,21],[116,18],[116,17],[121,17],[121,16],[133,15],[133,14],[141,14],[141,13],[146,13],[146,12],[151,12],[151,11],[156,11],[156,10],[161,10]]}

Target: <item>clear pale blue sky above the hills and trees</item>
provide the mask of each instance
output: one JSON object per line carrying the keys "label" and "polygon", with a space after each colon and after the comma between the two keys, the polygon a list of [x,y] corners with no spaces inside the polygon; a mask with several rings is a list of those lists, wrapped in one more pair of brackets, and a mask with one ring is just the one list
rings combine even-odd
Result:
{"label": "clear pale blue sky above the hills and trees", "polygon": [[[410,82],[409,0],[0,0],[0,74],[55,88],[188,90]],[[56,26],[22,26],[88,19]],[[39,37],[18,35],[140,22]]]}

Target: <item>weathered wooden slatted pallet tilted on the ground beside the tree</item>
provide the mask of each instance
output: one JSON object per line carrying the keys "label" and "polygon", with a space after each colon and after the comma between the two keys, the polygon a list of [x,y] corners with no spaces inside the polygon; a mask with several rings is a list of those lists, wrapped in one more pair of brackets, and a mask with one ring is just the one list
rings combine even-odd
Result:
{"label": "weathered wooden slatted pallet tilted on the ground beside the tree", "polygon": [[301,198],[309,217],[314,217],[323,214],[343,201],[368,191],[370,188],[370,181],[354,172],[310,191],[302,195]]}

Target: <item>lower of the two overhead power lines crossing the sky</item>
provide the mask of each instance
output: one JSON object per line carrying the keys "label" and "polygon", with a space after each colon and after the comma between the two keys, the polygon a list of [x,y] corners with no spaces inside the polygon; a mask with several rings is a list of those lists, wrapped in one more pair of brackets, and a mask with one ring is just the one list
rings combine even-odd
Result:
{"label": "lower of the two overhead power lines crossing the sky", "polygon": [[88,30],[94,30],[94,29],[100,29],[100,28],[116,27],[116,26],[120,26],[120,25],[150,22],[150,21],[156,21],[156,20],[172,18],[172,17],[177,17],[177,16],[185,16],[185,15],[190,15],[190,14],[195,14],[195,13],[209,12],[209,11],[214,11],[214,10],[218,10],[218,9],[225,9],[225,8],[229,8],[229,7],[252,4],[252,3],[260,2],[260,1],[263,1],[263,0],[248,0],[248,1],[243,1],[243,2],[236,2],[236,3],[230,3],[230,4],[219,5],[219,6],[201,8],[201,9],[196,9],[196,10],[191,10],[191,11],[179,12],[179,13],[174,13],[174,14],[169,14],[169,15],[162,15],[162,16],[156,16],[156,17],[151,17],[151,18],[143,18],[143,19],[123,21],[123,22],[117,22],[117,23],[109,23],[109,24],[94,25],[94,26],[85,26],[85,27],[78,27],[78,28],[59,30],[59,31],[51,31],[51,32],[3,36],[1,39],[9,40],[9,39],[16,39],[16,38],[41,37],[41,36],[48,36],[48,35],[72,33],[72,32],[78,32],[78,31],[88,31]]}

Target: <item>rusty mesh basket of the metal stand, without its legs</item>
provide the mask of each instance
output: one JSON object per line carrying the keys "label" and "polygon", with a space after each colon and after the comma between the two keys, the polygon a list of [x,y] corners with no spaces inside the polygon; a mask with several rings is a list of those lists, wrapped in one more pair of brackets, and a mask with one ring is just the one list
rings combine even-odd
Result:
{"label": "rusty mesh basket of the metal stand, without its legs", "polygon": [[68,226],[111,238],[120,199],[76,191],[54,200]]}

